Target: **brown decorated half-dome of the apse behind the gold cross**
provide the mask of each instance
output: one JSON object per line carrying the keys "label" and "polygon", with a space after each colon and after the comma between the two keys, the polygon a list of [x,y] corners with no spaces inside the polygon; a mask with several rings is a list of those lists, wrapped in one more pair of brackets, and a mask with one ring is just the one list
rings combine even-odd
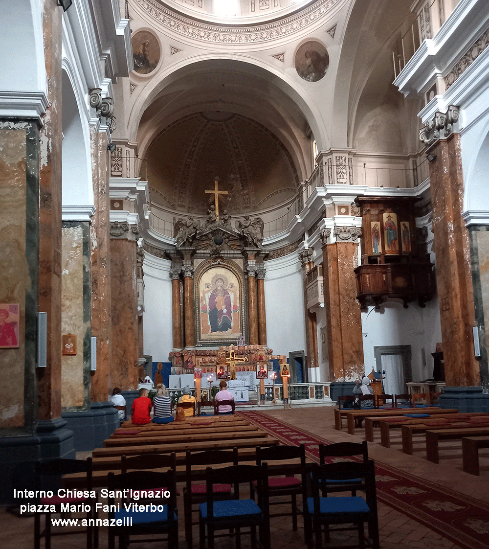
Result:
{"label": "brown decorated half-dome of the apse behind the gold cross", "polygon": [[205,111],[179,119],[155,137],[147,154],[151,201],[205,214],[205,191],[220,178],[229,214],[273,208],[299,187],[294,161],[265,126],[238,114]]}

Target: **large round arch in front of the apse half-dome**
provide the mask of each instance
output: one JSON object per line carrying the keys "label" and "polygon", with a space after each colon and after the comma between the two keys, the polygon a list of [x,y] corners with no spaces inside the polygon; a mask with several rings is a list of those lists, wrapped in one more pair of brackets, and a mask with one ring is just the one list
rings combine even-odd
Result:
{"label": "large round arch in front of the apse half-dome", "polygon": [[[246,86],[246,93],[234,95],[231,91],[226,95],[226,90],[223,90],[220,103],[219,97],[210,98],[209,94],[199,103],[195,100],[198,89],[194,87],[190,101],[190,96],[186,97],[185,86],[179,86],[179,83],[188,83],[189,79],[203,82],[205,78],[209,78],[210,71],[217,77],[219,74],[226,75],[226,80],[232,82],[230,87],[234,86],[235,89],[238,88],[240,81],[252,81],[254,86]],[[254,96],[250,94],[252,88],[256,89]],[[159,101],[162,108],[154,109],[157,118],[151,117],[151,124],[145,124],[145,113],[150,110],[151,105]],[[136,99],[131,109],[127,124],[128,136],[131,141],[138,142],[141,153],[139,156],[142,156],[153,135],[167,124],[196,111],[216,110],[217,104],[217,110],[228,110],[267,125],[289,149],[298,171],[304,174],[304,178],[311,170],[311,163],[308,160],[311,152],[306,153],[301,143],[306,124],[311,128],[319,148],[328,140],[321,112],[297,82],[263,61],[251,61],[243,54],[222,52],[202,54],[190,60],[183,60],[162,71],[160,80],[148,82],[144,86],[144,95]],[[284,112],[289,115],[289,119],[285,117]]]}

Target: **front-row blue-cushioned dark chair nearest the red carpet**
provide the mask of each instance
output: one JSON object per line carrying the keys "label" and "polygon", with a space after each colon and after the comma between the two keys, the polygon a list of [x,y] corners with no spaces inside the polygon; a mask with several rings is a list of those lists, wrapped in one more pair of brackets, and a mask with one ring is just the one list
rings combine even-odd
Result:
{"label": "front-row blue-cushioned dark chair nearest the red carpet", "polygon": [[[330,480],[336,483],[358,477],[362,481],[362,490],[366,497],[333,496],[320,497],[319,491]],[[312,468],[312,497],[304,492],[304,526],[308,549],[313,547],[313,535],[317,549],[322,548],[323,526],[324,537],[329,542],[329,535],[334,531],[357,530],[358,544],[348,547],[372,547],[379,549],[379,524],[377,516],[377,499],[375,492],[375,472],[373,460],[367,463],[341,462],[314,464]],[[368,525],[368,537],[365,536],[364,524]],[[353,527],[351,526],[353,524]],[[330,529],[330,525],[341,525]],[[344,545],[328,544],[328,549],[339,549]]]}

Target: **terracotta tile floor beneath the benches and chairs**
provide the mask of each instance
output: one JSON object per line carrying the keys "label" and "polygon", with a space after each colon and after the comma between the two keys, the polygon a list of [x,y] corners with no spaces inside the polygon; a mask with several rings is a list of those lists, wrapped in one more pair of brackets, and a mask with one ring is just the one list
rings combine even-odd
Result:
{"label": "terracotta tile floor beneath the benches and chairs", "polygon": [[[336,431],[334,429],[334,417],[332,407],[313,407],[300,408],[293,407],[291,410],[267,410],[263,413],[269,414],[277,419],[296,425],[301,429],[307,429],[311,433],[321,436],[331,442],[342,440],[361,441],[363,439],[363,430],[357,429],[356,435],[347,434],[346,430]],[[407,456],[400,449],[400,436],[396,434],[391,436],[391,448],[380,446],[380,435],[376,433],[376,439],[373,444],[369,444],[369,455],[379,463],[385,463],[392,467],[416,475],[420,479],[429,479],[439,486],[449,487],[462,494],[470,495],[484,502],[489,501],[489,461],[487,453],[481,460],[481,475],[474,477],[462,471],[462,454],[460,446],[454,442],[448,441],[441,445],[440,464],[434,464],[426,461],[424,452],[421,451],[421,438],[415,445],[413,456]],[[78,457],[86,457],[86,453]],[[483,454],[484,455],[484,454]],[[182,498],[179,498],[179,507],[183,507]],[[285,509],[286,507],[284,507]],[[280,507],[276,506],[272,512],[279,512]],[[183,518],[183,508],[179,509],[179,516]],[[451,549],[457,547],[451,541],[443,538],[439,534],[431,531],[426,526],[418,523],[391,507],[379,504],[379,528],[380,528],[380,546],[382,549]],[[17,518],[7,513],[4,509],[0,511],[0,531],[2,549],[31,549],[33,546],[33,519]],[[179,547],[186,548],[184,539],[183,520],[181,519],[179,536]],[[302,522],[299,517],[299,530],[293,532],[291,522],[288,517],[272,518],[272,547],[273,549],[303,549],[306,547],[303,541]],[[349,535],[336,534],[332,536],[332,541],[338,545],[344,540],[348,543]],[[352,537],[353,540],[356,536]],[[199,533],[198,527],[194,527],[194,547],[198,548]],[[249,540],[243,536],[243,549],[249,547]],[[328,545],[325,545],[327,547]],[[42,546],[43,547],[43,542]],[[85,536],[77,534],[73,536],[54,537],[52,542],[53,549],[80,549],[85,547]],[[106,528],[100,529],[100,549],[107,547]],[[156,549],[166,547],[161,542],[137,543],[130,545],[131,549]],[[224,537],[216,542],[216,549],[229,549],[234,547],[234,540]],[[488,544],[489,547],[489,544]]]}

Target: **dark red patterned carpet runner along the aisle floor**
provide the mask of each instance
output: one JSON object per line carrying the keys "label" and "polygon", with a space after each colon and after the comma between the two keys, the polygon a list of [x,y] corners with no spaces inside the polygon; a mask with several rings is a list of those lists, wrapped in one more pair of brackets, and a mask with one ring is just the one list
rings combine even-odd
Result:
{"label": "dark red patterned carpet runner along the aisle floor", "polygon": [[[331,444],[294,425],[254,410],[237,412],[289,445],[304,444],[307,455],[319,461],[319,442]],[[338,458],[333,458],[340,461]],[[441,489],[394,467],[376,464],[377,499],[428,526],[464,549],[489,547],[489,505],[458,492]]]}

